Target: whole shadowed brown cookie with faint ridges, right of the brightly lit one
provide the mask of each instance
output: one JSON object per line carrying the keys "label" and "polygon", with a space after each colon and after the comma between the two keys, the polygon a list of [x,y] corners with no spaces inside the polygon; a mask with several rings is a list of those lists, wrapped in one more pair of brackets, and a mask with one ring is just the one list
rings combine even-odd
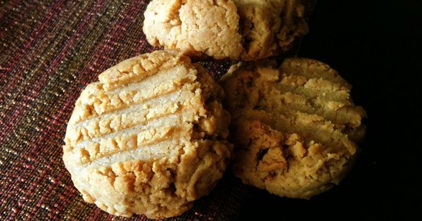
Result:
{"label": "whole shadowed brown cookie with faint ridges, right of the brightly lit one", "polygon": [[[338,184],[365,133],[364,109],[328,65],[307,58],[234,67],[222,79],[234,173],[272,194],[309,198]],[[236,69],[237,68],[237,69]]]}

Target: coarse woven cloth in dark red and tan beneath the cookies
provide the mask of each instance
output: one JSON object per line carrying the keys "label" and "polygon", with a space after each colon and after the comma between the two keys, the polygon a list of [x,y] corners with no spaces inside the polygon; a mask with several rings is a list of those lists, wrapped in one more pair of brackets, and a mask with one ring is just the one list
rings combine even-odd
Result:
{"label": "coarse woven cloth in dark red and tan beneath the cookies", "polygon": [[[0,1],[0,220],[125,220],[84,203],[63,165],[74,103],[98,74],[154,51],[148,1]],[[203,63],[213,77],[229,63]],[[229,172],[169,220],[233,220],[250,187]],[[132,220],[147,220],[134,215]]]}

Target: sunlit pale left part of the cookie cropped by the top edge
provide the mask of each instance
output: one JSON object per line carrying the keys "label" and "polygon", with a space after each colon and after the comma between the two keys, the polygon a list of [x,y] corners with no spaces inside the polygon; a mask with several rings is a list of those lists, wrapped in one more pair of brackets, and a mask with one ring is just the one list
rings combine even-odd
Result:
{"label": "sunlit pale left part of the cookie cropped by the top edge", "polygon": [[152,45],[216,59],[236,59],[242,51],[232,1],[153,0],[144,15],[143,32]]}

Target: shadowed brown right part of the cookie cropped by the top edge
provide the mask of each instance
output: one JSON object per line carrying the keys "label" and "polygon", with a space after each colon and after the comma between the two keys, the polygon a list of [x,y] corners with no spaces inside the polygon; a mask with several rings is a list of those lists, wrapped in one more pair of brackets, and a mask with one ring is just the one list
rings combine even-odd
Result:
{"label": "shadowed brown right part of the cookie cropped by the top edge", "polygon": [[288,51],[308,32],[305,7],[298,0],[233,0],[243,37],[241,60],[252,61]]}

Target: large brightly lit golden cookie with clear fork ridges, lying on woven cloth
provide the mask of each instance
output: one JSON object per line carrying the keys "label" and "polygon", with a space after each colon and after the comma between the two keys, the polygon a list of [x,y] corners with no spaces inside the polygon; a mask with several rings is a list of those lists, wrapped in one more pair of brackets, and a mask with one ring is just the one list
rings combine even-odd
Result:
{"label": "large brightly lit golden cookie with clear fork ridges, lying on woven cloth", "polygon": [[109,68],[77,99],[63,160],[85,201],[113,215],[179,215],[231,158],[224,91],[177,51]]}

